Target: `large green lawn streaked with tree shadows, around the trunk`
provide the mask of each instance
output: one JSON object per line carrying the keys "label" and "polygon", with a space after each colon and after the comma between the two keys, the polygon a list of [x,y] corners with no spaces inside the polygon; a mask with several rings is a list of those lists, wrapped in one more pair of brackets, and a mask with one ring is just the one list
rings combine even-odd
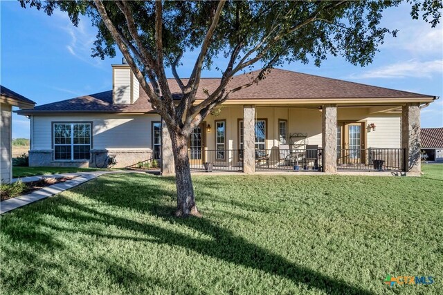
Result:
{"label": "large green lawn streaked with tree shadows, around the trunk", "polygon": [[[427,169],[427,167],[426,167]],[[431,169],[433,170],[433,169]],[[4,294],[442,294],[443,182],[104,175],[1,217]],[[433,285],[389,287],[392,276]]]}

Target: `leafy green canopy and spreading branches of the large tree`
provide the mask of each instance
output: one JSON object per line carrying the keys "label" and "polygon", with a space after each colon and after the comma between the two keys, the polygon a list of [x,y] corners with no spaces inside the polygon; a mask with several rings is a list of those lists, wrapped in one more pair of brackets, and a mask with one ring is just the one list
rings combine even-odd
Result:
{"label": "leafy green canopy and spreading branches of the large tree", "polygon": [[[80,15],[87,15],[98,28],[92,56],[114,57],[116,47],[125,47],[123,55],[127,57],[125,51],[130,55],[129,65],[136,66],[140,77],[147,81],[142,87],[154,108],[163,108],[161,99],[168,100],[170,96],[168,86],[162,85],[164,67],[172,68],[188,106],[194,102],[189,97],[197,91],[201,68],[212,66],[217,57],[228,58],[226,68],[217,68],[221,72],[221,87],[215,93],[208,93],[208,101],[202,102],[201,107],[195,106],[188,123],[196,115],[204,117],[230,93],[239,91],[241,88],[227,90],[228,80],[236,73],[250,70],[259,61],[262,72],[253,77],[254,83],[263,79],[266,70],[273,66],[310,60],[320,66],[328,55],[341,55],[354,65],[370,64],[384,37],[395,36],[397,32],[380,26],[382,12],[399,3],[398,0],[226,3],[21,0],[22,6],[42,9],[48,15],[57,8],[67,12],[74,26],[78,25]],[[410,1],[410,4],[414,19],[422,17],[431,26],[439,23],[441,1]],[[190,50],[200,50],[200,54],[185,85],[177,74],[177,66],[183,54]],[[172,112],[176,118],[170,119],[179,119],[174,121],[186,125],[186,118],[182,116],[186,106],[169,109],[177,111]]]}

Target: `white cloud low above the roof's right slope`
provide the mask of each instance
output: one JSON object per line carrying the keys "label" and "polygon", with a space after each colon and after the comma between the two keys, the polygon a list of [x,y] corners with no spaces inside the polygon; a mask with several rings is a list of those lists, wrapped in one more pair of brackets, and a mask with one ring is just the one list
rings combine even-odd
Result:
{"label": "white cloud low above the roof's right slope", "polygon": [[349,79],[368,79],[368,78],[404,78],[421,77],[431,78],[435,74],[443,72],[443,59],[433,61],[417,61],[410,59],[408,61],[399,61],[395,64],[381,66],[373,70],[367,70],[359,74],[352,74]]}

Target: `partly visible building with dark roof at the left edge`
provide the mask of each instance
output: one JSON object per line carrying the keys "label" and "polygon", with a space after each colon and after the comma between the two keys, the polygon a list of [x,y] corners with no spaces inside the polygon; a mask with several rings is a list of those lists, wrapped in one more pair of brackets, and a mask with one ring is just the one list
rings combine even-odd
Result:
{"label": "partly visible building with dark roof at the left edge", "polygon": [[10,89],[0,86],[0,182],[12,179],[12,106],[33,108],[35,102]]}

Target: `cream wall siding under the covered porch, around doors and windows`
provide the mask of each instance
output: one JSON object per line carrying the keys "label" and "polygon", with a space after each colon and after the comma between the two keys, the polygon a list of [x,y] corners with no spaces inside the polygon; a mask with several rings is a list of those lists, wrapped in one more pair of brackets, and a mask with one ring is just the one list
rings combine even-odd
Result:
{"label": "cream wall siding under the covered porch, around doors and windows", "polygon": [[[288,120],[288,142],[290,133],[307,133],[306,144],[322,145],[322,113],[317,108],[284,108],[261,107],[255,108],[257,119],[267,121],[266,149],[279,146],[278,120]],[[226,147],[238,149],[238,120],[243,117],[242,106],[222,106],[217,117],[208,115],[206,124],[210,124],[213,131],[206,133],[206,146],[215,149],[215,120],[226,120]],[[350,122],[364,122],[365,126],[374,123],[375,131],[368,131],[366,147],[401,148],[401,114],[374,113],[369,108],[338,108],[338,120]],[[302,143],[301,141],[299,142]]]}

